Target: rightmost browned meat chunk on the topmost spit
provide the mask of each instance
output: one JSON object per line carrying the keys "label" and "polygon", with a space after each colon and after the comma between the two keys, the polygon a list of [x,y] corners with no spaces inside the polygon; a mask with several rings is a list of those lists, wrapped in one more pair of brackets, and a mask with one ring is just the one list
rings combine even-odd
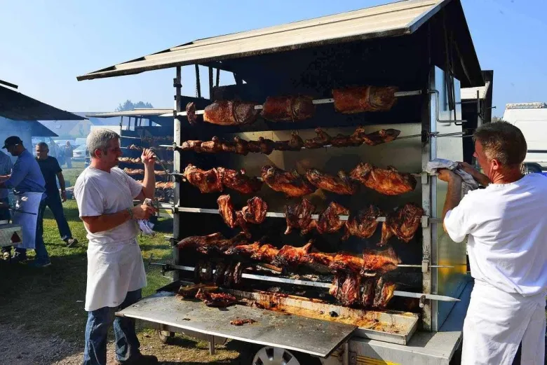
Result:
{"label": "rightmost browned meat chunk on the topmost spit", "polygon": [[332,90],[335,109],[340,113],[351,114],[363,111],[389,111],[395,104],[397,88],[362,86]]}

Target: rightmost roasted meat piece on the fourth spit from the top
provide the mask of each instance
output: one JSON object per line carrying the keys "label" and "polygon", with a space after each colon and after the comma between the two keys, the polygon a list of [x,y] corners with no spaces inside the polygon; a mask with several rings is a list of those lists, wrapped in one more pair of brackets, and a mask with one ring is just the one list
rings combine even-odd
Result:
{"label": "rightmost roasted meat piece on the fourth spit from the top", "polygon": [[386,216],[386,221],[381,227],[381,240],[379,245],[386,245],[388,240],[395,235],[403,242],[410,242],[421,223],[421,216],[425,214],[424,209],[407,203],[404,207]]}

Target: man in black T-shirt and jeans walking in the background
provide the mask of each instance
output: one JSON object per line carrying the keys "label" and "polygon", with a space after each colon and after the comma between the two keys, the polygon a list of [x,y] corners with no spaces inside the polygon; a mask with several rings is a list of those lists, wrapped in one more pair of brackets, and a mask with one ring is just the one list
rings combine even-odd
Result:
{"label": "man in black T-shirt and jeans walking in the background", "polygon": [[[43,205],[43,209],[46,209],[46,206],[51,209],[53,216],[55,216],[55,221],[57,221],[61,239],[65,241],[67,247],[72,247],[78,243],[78,240],[72,237],[70,227],[65,218],[65,212],[62,210],[62,202],[67,201],[65,177],[62,176],[62,170],[58,160],[55,157],[48,156],[48,153],[49,146],[46,142],[36,144],[36,161],[38,161],[38,165],[40,166],[43,179],[46,180],[46,203]],[[57,188],[57,179],[59,179],[59,185],[61,187],[60,196],[59,189]]]}

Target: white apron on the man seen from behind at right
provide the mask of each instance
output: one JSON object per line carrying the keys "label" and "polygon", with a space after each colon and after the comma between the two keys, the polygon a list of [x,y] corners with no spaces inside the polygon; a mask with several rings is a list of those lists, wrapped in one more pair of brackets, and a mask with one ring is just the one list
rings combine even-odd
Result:
{"label": "white apron on the man seen from behind at right", "polygon": [[508,294],[475,280],[464,322],[462,365],[511,365],[522,341],[522,365],[543,365],[545,293]]}

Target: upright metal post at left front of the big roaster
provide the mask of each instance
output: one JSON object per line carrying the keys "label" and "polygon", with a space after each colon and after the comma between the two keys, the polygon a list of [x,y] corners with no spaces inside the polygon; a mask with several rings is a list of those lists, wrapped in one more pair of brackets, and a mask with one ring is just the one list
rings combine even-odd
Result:
{"label": "upright metal post at left front of the big roaster", "polygon": [[[175,120],[174,120],[174,128],[173,128],[173,144],[180,146],[181,144],[181,128],[180,128],[180,120],[177,116],[177,113],[182,111],[182,105],[180,100],[180,89],[182,88],[182,81],[181,81],[181,67],[177,66],[177,76],[173,80],[173,86],[175,87]],[[180,161],[180,151],[173,151],[173,168],[175,169],[175,172],[181,171],[181,161]],[[173,194],[173,205],[175,207],[180,206],[180,183],[175,180],[175,190]],[[180,214],[176,211],[176,209],[173,209],[173,237],[175,237],[175,240],[180,240]],[[179,256],[179,250],[173,249],[173,260],[178,265],[180,263],[180,256]],[[177,271],[173,273],[173,280],[179,280],[179,274]]]}

